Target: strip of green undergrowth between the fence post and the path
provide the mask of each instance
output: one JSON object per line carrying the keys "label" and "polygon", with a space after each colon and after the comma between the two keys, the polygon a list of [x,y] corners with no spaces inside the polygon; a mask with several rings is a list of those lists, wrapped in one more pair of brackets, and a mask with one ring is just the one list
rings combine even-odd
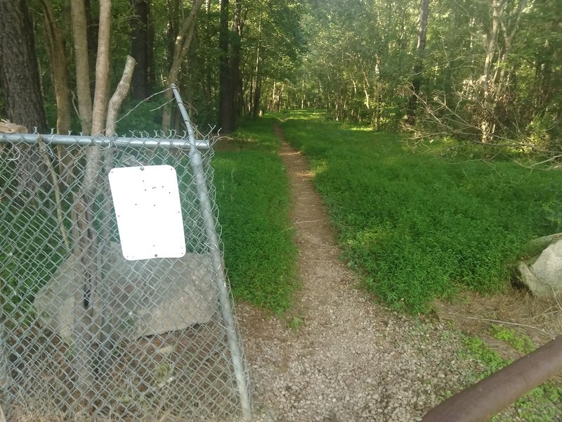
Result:
{"label": "strip of green undergrowth between the fence post and the path", "polygon": [[[296,247],[273,119],[243,123],[212,162],[225,264],[235,298],[277,314],[291,306]],[[234,147],[234,148],[233,148]],[[228,151],[228,150],[235,151]]]}

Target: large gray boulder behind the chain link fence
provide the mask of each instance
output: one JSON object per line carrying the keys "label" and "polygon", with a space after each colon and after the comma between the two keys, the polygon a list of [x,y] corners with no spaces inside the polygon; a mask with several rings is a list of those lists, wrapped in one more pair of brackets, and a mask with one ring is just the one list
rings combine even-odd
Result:
{"label": "large gray boulder behind the chain link fence", "polygon": [[[110,245],[108,255],[109,274],[91,293],[94,331],[103,329],[114,340],[133,340],[205,324],[216,312],[218,292],[209,255],[127,261],[118,243]],[[34,300],[39,322],[69,344],[75,307],[83,307],[79,269],[78,257],[70,255]],[[101,321],[107,321],[104,328]]]}

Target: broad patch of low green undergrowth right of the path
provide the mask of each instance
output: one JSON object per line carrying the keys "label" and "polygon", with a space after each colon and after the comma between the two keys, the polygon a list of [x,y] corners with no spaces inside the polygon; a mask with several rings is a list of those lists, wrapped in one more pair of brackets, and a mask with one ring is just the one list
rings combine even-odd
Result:
{"label": "broad patch of low green undergrowth right of the path", "polygon": [[562,172],[509,160],[414,153],[397,134],[286,115],[282,129],[315,172],[344,258],[391,308],[426,312],[459,290],[509,286],[525,243],[556,229]]}

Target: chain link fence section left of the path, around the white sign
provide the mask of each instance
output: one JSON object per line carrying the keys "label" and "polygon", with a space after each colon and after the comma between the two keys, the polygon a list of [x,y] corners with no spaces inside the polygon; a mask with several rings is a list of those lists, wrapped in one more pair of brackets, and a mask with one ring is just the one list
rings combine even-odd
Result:
{"label": "chain link fence section left of the path, around the white sign", "polygon": [[[213,151],[190,135],[0,134],[0,403],[8,420],[250,417],[214,218]],[[108,174],[153,165],[177,172],[185,255],[126,260]],[[165,214],[166,205],[154,206]],[[156,222],[143,221],[137,235]]]}

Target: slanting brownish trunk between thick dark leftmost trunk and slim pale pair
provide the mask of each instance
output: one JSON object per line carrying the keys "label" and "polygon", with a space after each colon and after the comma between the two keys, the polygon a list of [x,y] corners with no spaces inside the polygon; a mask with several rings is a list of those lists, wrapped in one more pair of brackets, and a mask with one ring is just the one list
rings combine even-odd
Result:
{"label": "slanting brownish trunk between thick dark leftmost trunk and slim pale pair", "polygon": [[56,23],[51,0],[41,0],[45,23],[47,53],[51,61],[53,85],[57,103],[57,133],[67,134],[71,129],[70,90],[68,89],[67,60],[63,32]]}

